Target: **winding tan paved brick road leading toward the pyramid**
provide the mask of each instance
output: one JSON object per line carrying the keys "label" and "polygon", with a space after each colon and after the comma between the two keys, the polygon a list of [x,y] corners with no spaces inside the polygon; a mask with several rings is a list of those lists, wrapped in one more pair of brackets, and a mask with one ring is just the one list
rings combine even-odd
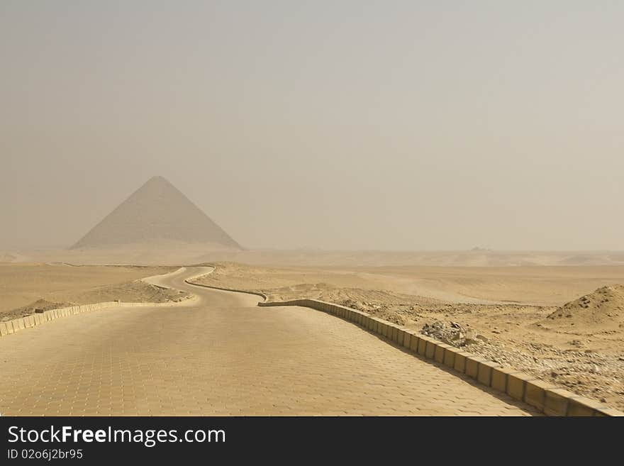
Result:
{"label": "winding tan paved brick road leading toward the pyramid", "polygon": [[162,280],[193,306],[60,318],[0,338],[2,415],[530,415],[361,328]]}

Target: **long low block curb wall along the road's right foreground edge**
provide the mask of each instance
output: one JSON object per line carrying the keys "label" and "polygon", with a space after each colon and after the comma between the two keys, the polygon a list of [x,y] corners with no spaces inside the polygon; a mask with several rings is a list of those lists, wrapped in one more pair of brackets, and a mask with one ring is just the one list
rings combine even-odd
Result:
{"label": "long low block curb wall along the road's right foreground edge", "polygon": [[568,392],[518,370],[504,369],[495,362],[446,345],[417,331],[398,326],[366,312],[316,299],[296,299],[284,302],[264,302],[258,306],[304,306],[344,318],[358,326],[388,338],[411,353],[445,365],[477,380],[480,384],[523,401],[547,416],[624,416],[589,398]]}

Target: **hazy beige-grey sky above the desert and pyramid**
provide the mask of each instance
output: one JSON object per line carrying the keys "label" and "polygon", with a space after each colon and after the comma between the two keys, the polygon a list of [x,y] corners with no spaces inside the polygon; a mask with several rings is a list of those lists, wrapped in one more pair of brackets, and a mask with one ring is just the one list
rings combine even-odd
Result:
{"label": "hazy beige-grey sky above the desert and pyramid", "polygon": [[623,1],[0,1],[0,249],[155,174],[251,248],[624,250]]}

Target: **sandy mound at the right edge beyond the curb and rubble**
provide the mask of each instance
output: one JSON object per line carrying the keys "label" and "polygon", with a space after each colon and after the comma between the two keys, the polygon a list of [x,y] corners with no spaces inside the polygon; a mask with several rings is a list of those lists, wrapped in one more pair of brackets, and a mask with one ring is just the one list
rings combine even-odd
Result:
{"label": "sandy mound at the right edge beyond the curb and rubble", "polygon": [[548,316],[559,326],[584,328],[624,326],[624,285],[612,285],[570,301]]}

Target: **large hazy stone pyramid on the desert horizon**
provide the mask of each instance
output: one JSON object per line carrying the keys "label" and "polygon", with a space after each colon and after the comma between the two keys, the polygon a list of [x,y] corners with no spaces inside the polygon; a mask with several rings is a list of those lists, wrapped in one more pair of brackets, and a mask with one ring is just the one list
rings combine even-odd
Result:
{"label": "large hazy stone pyramid on the desert horizon", "polygon": [[71,249],[159,242],[211,243],[241,249],[163,177],[148,180]]}

